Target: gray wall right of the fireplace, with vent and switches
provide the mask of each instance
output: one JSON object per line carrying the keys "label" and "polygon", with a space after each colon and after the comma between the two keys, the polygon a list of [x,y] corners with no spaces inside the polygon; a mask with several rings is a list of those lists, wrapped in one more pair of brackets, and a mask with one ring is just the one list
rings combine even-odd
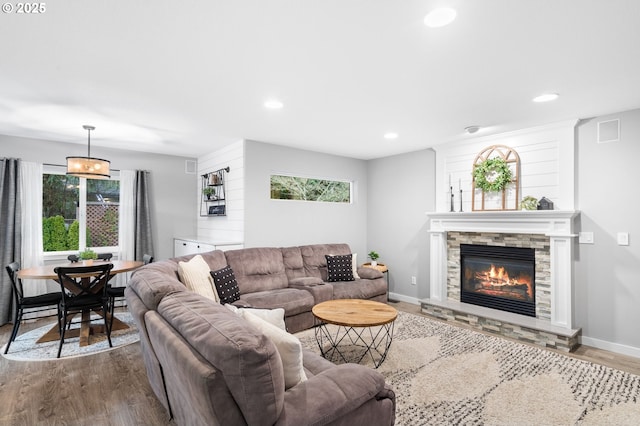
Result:
{"label": "gray wall right of the fireplace, with vent and switches", "polygon": [[[598,144],[597,123],[620,119],[620,140]],[[576,323],[583,343],[640,356],[640,109],[578,126],[578,208],[593,244],[578,245]],[[629,245],[617,244],[628,232]]]}

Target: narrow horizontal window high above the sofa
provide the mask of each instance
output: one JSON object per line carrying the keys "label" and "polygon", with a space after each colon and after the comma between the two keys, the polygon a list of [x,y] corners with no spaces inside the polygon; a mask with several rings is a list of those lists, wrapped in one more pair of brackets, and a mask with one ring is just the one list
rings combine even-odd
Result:
{"label": "narrow horizontal window high above the sofa", "polygon": [[350,203],[351,182],[271,175],[271,199]]}

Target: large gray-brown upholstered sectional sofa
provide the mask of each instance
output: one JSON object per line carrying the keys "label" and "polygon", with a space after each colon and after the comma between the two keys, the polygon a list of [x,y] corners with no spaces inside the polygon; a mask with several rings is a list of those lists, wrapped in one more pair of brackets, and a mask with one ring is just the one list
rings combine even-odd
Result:
{"label": "large gray-brown upholstered sectional sofa", "polygon": [[[239,307],[284,308],[290,332],[314,325],[314,304],[336,298],[386,301],[382,274],[327,283],[325,254],[346,244],[248,248],[201,254],[218,270],[230,266]],[[125,290],[140,331],[149,382],[179,425],[392,425],[395,395],[375,370],[336,366],[303,349],[308,380],[287,390],[274,344],[226,307],[190,292],[178,279],[183,256],[136,271]]]}

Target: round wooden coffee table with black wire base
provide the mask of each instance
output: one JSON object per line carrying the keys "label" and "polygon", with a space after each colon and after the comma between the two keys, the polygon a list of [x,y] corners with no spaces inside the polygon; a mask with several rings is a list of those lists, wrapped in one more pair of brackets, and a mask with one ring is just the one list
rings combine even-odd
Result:
{"label": "round wooden coffee table with black wire base", "polygon": [[[326,359],[337,356],[344,362],[360,363],[369,355],[378,368],[387,357],[398,317],[395,308],[371,300],[341,299],[318,303],[312,312],[320,321],[316,341]],[[359,350],[354,352],[354,347]]]}

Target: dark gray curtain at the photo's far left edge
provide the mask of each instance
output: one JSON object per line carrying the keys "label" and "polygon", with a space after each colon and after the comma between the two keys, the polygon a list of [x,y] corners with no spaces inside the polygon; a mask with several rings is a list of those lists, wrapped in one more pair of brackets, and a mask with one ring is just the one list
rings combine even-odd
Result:
{"label": "dark gray curtain at the photo's far left edge", "polygon": [[0,159],[0,325],[12,321],[13,289],[9,275],[4,270],[11,262],[20,261],[21,212],[20,212],[20,160]]}

